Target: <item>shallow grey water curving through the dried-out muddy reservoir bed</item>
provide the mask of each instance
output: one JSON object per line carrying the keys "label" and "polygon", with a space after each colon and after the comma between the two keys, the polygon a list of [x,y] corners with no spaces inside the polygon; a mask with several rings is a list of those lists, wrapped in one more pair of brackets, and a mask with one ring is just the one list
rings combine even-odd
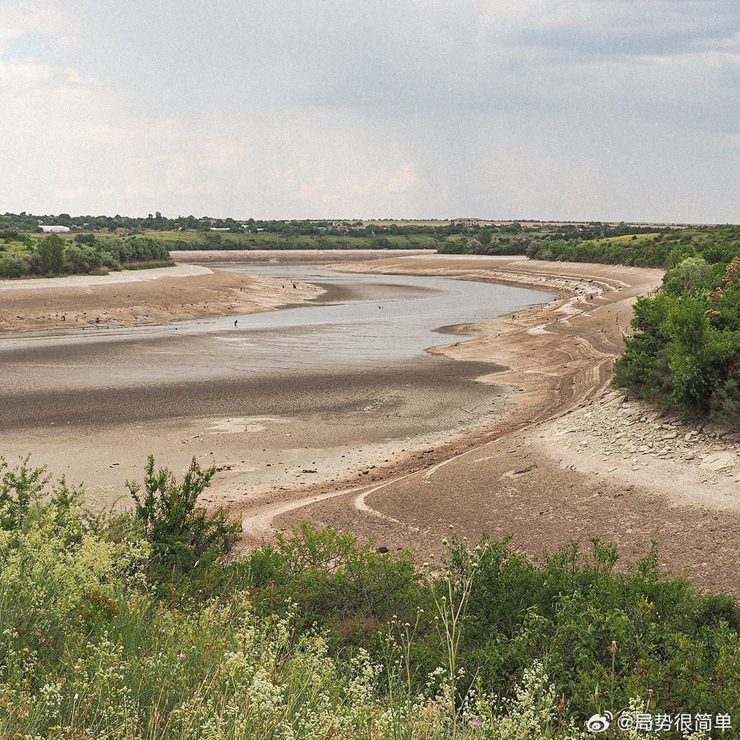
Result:
{"label": "shallow grey water curving through the dried-out muddy reservoir bed", "polygon": [[312,266],[223,269],[305,280],[329,292],[317,303],[275,312],[0,340],[0,400],[24,390],[388,368],[451,341],[455,335],[442,327],[491,320],[554,298],[448,277],[344,274]]}

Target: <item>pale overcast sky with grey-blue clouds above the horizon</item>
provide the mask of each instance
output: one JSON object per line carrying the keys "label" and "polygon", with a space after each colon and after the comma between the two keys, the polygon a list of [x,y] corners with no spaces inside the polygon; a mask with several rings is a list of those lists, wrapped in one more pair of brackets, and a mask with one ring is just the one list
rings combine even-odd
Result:
{"label": "pale overcast sky with grey-blue clouds above the horizon", "polygon": [[740,223],[738,0],[0,0],[0,212]]}

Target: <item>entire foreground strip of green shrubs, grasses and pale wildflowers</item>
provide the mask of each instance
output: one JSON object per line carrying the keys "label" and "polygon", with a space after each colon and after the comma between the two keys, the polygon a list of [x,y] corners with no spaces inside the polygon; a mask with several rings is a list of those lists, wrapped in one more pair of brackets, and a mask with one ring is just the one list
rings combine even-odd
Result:
{"label": "entire foreground strip of green shrubs, grasses and pale wildflowers", "polygon": [[234,557],[239,526],[197,506],[213,474],[150,459],[130,514],[93,514],[84,489],[0,463],[1,737],[574,739],[606,710],[740,719],[739,606],[654,552],[619,573],[598,540],[533,562],[453,536],[417,568],[305,525]]}

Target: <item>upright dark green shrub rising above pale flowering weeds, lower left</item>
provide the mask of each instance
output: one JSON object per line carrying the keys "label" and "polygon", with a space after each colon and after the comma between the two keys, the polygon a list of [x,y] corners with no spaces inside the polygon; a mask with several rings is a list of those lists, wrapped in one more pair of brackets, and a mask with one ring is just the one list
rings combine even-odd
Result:
{"label": "upright dark green shrub rising above pale flowering weeds, lower left", "polygon": [[198,507],[198,497],[210,485],[216,468],[202,470],[190,463],[181,483],[166,468],[155,472],[149,455],[144,468],[144,487],[127,482],[135,502],[135,519],[152,546],[153,564],[159,570],[188,571],[205,567],[229,555],[238,542],[240,522],[229,522],[219,509],[212,516]]}

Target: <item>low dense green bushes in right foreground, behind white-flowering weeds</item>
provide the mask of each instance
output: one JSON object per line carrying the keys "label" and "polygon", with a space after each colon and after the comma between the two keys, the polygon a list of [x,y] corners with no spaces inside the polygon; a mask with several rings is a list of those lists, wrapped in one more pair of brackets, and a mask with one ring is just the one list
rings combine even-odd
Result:
{"label": "low dense green bushes in right foreground, behind white-flowering weeds", "polygon": [[[419,683],[447,660],[437,605],[464,602],[456,663],[467,678],[457,686],[460,696],[473,676],[486,693],[511,696],[513,677],[540,662],[557,695],[565,693],[582,718],[648,690],[666,712],[723,711],[723,703],[740,710],[730,678],[740,676],[739,605],[662,573],[654,548],[627,571],[616,571],[617,562],[615,548],[599,539],[588,554],[570,545],[533,562],[507,540],[468,548],[453,536],[443,563],[425,579],[406,554],[378,555],[349,535],[303,525],[243,565],[258,612],[284,615],[281,605],[292,595],[299,632],[317,624],[342,650],[362,646],[383,655],[375,630],[394,614],[391,631],[408,633],[411,680]],[[358,598],[367,584],[380,599]]]}

